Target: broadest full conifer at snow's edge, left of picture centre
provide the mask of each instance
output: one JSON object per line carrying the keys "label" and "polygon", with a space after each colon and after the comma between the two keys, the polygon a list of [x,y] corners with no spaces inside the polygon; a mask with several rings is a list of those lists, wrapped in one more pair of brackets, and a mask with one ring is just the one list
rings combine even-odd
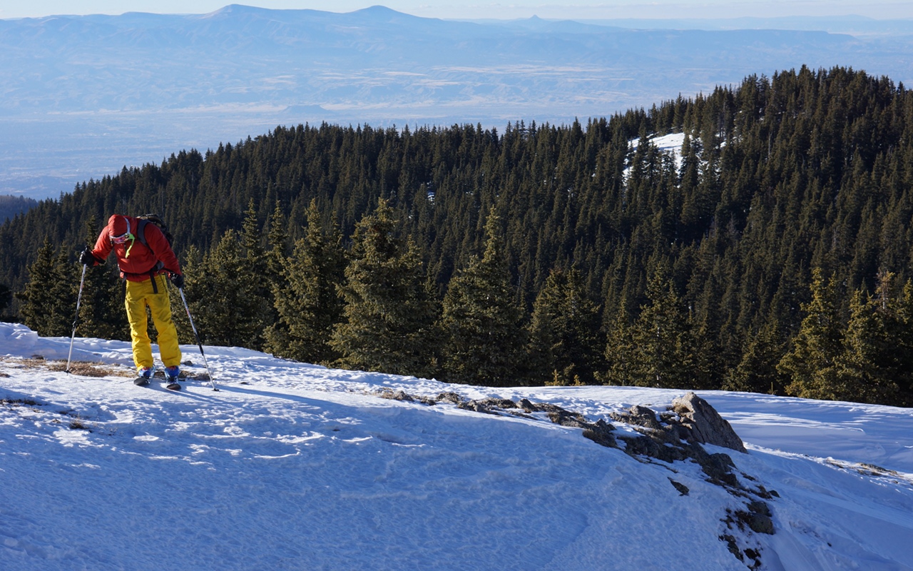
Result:
{"label": "broadest full conifer at snow's edge, left of picture centre", "polygon": [[396,226],[383,199],[356,224],[341,287],[344,320],[335,326],[330,344],[341,354],[337,365],[342,367],[430,375],[427,348],[435,307],[425,291],[417,248],[395,237]]}

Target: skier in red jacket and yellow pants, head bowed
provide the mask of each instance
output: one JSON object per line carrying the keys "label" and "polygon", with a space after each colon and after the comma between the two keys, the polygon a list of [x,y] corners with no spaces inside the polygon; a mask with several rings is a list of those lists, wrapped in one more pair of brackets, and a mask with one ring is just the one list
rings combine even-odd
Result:
{"label": "skier in red jacket and yellow pants, head bowed", "polygon": [[184,287],[184,276],[171,244],[163,231],[152,222],[116,214],[108,219],[108,226],[101,230],[95,248],[83,250],[79,261],[89,267],[98,266],[104,263],[111,250],[114,250],[117,257],[121,278],[126,280],[125,305],[130,322],[133,363],[138,371],[133,382],[145,386],[152,378],[152,344],[146,330],[148,306],[155,331],[158,332],[168,388],[180,390],[177,380],[181,349],[172,322],[165,274],[170,276],[178,289]]}

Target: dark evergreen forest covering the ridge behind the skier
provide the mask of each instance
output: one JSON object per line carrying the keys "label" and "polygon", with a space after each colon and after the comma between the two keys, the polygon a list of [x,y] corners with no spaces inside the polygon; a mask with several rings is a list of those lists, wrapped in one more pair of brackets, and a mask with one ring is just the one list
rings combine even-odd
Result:
{"label": "dark evergreen forest covering the ridge behind the skier", "polygon": [[[670,132],[680,164],[650,143]],[[205,343],[456,382],[911,406],[911,135],[903,85],[842,68],[585,124],[277,127],[8,221],[0,284],[69,334],[76,254],[110,214],[156,212]],[[80,333],[122,335],[116,279],[89,274],[110,294]]]}

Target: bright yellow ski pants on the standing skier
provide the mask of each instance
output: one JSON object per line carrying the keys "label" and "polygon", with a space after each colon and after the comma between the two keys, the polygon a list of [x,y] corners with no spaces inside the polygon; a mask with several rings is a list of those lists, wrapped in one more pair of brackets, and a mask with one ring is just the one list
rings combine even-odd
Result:
{"label": "bright yellow ski pants on the standing skier", "polygon": [[181,348],[177,344],[177,330],[171,318],[171,300],[168,297],[168,283],[164,276],[153,278],[158,293],[152,289],[152,280],[127,281],[127,320],[130,322],[130,337],[133,343],[133,363],[137,370],[152,367],[152,342],[146,330],[146,306],[152,313],[152,323],[158,332],[159,352],[165,366],[181,364]]}

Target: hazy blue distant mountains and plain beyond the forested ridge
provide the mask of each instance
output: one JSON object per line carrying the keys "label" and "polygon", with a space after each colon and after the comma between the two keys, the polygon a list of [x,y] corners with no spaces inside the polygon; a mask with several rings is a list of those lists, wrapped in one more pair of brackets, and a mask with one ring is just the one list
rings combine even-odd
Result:
{"label": "hazy blue distant mountains and plain beyond the forested ridge", "polygon": [[907,21],[821,23],[855,36],[813,20],[641,24],[243,5],[0,20],[0,194],[57,196],[279,124],[585,121],[803,64],[913,79]]}

